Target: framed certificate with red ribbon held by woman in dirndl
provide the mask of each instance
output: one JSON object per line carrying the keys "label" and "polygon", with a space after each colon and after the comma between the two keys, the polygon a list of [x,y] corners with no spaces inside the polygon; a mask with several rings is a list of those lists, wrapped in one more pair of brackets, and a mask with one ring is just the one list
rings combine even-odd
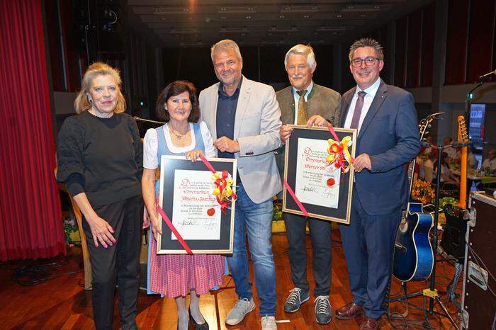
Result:
{"label": "framed certificate with red ribbon held by woman in dirndl", "polygon": [[[208,159],[222,176],[227,171],[236,187],[236,159]],[[221,210],[213,191],[215,178],[203,161],[162,155],[159,206],[169,217],[193,254],[232,254],[235,201]],[[157,240],[157,254],[186,254],[184,246],[159,217],[162,235]]]}

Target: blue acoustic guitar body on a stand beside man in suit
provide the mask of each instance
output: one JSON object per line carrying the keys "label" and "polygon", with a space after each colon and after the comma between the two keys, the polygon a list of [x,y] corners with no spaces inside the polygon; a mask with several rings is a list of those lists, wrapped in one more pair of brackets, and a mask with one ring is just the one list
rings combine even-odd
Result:
{"label": "blue acoustic guitar body on a stand beside man in suit", "polygon": [[430,213],[424,213],[422,203],[409,203],[407,220],[396,236],[393,275],[402,282],[429,278],[434,266],[429,233],[433,227]]}

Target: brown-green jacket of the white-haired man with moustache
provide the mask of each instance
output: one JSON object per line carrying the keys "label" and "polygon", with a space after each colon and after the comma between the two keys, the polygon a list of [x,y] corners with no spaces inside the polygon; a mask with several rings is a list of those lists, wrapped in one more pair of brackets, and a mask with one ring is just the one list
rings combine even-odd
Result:
{"label": "brown-green jacket of the white-haired man with moustache", "polygon": [[[277,101],[281,107],[281,120],[283,125],[295,123],[295,98],[293,87],[288,86],[276,93]],[[321,115],[332,123],[332,126],[339,125],[339,114],[341,108],[341,96],[337,91],[327,87],[313,84],[312,91],[308,95],[306,110],[308,117]]]}

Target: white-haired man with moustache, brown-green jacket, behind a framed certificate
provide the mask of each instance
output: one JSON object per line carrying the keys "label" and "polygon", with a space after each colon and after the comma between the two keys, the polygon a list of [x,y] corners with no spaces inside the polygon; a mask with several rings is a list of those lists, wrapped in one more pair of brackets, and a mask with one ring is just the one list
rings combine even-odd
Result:
{"label": "white-haired man with moustache, brown-green jacket, behind a framed certificate", "polygon": [[[295,45],[284,58],[291,86],[276,93],[281,107],[281,140],[286,142],[291,136],[288,124],[332,125],[339,123],[341,96],[337,91],[315,84],[313,72],[317,67],[315,53],[310,45]],[[303,117],[303,118],[301,118]],[[279,151],[282,151],[279,149]],[[284,155],[278,152],[277,161],[281,176],[284,168]],[[306,218],[301,215],[284,213],[288,234],[288,255],[291,265],[291,278],[294,288],[284,304],[285,312],[296,312],[310,297],[307,279]],[[313,278],[315,280],[315,319],[320,324],[331,322],[332,308],[329,303],[331,285],[331,222],[308,219],[312,238]]]}

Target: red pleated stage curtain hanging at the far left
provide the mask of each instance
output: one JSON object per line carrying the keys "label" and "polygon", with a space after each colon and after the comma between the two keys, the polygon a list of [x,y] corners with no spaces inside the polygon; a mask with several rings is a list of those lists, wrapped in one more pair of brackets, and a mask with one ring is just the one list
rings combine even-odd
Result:
{"label": "red pleated stage curtain hanging at the far left", "polygon": [[0,0],[0,260],[65,254],[40,0]]}

